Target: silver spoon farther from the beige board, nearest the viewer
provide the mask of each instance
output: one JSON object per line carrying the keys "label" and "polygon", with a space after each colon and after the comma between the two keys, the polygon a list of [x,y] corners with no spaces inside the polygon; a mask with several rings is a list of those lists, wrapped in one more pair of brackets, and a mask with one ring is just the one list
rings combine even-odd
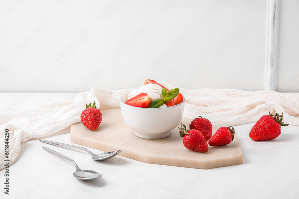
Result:
{"label": "silver spoon farther from the beige board, nearest the viewer", "polygon": [[45,146],[43,146],[42,148],[45,149],[48,152],[54,153],[56,155],[59,155],[62,158],[65,158],[68,161],[72,162],[76,166],[76,171],[73,173],[73,175],[76,178],[79,178],[80,180],[93,180],[93,179],[102,177],[102,174],[100,174],[98,172],[95,172],[95,171],[92,171],[92,170],[82,170],[82,169],[80,169],[79,166],[77,165],[77,163],[73,159],[71,159],[71,158],[69,158],[69,157],[67,157],[65,155],[62,155],[61,153],[53,151],[52,149],[49,149],[49,148],[47,148]]}

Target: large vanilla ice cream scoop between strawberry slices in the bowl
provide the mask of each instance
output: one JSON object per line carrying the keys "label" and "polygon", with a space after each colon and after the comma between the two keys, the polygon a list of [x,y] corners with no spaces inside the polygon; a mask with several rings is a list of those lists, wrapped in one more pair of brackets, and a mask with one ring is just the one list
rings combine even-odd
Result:
{"label": "large vanilla ice cream scoop between strawberry slices in the bowl", "polygon": [[128,100],[143,92],[149,95],[151,101],[156,99],[163,99],[161,95],[161,91],[162,91],[162,87],[159,86],[158,84],[145,84],[142,87],[140,87],[138,90],[136,89],[129,92]]}

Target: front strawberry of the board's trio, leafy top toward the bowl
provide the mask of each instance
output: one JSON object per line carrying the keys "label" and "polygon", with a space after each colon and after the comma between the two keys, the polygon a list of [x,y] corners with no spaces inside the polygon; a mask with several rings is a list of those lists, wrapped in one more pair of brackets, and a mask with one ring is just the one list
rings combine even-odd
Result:
{"label": "front strawberry of the board's trio, leafy top toward the bowl", "polygon": [[181,128],[179,129],[184,146],[192,151],[208,152],[209,146],[202,133],[196,129],[186,130],[186,126],[184,124],[183,126],[184,128],[181,123]]}

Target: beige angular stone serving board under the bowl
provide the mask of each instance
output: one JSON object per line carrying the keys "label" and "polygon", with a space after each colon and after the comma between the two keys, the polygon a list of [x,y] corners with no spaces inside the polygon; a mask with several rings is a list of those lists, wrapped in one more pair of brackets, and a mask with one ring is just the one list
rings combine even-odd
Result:
{"label": "beige angular stone serving board under the bowl", "polygon": [[[243,153],[235,135],[234,141],[226,146],[209,146],[206,153],[188,150],[183,145],[179,129],[162,139],[139,138],[126,126],[120,109],[102,111],[103,121],[97,130],[87,129],[81,122],[71,125],[71,142],[100,151],[122,150],[120,156],[159,165],[210,169],[242,164]],[[187,127],[192,120],[183,118]],[[165,124],[167,125],[167,124]],[[213,126],[213,133],[219,127]]]}

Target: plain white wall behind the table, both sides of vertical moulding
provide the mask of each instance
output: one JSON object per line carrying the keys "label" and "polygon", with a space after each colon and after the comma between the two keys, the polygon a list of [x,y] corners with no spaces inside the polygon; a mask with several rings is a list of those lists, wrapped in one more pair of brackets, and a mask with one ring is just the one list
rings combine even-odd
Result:
{"label": "plain white wall behind the table, both sides of vertical moulding", "polygon": [[[117,2],[104,18],[102,13]],[[115,90],[141,86],[145,79],[190,89],[265,89],[265,64],[254,67],[266,56],[266,0],[176,0],[165,7],[167,2],[172,1],[1,0],[0,92],[23,92],[34,81],[39,83],[33,92]],[[277,90],[282,92],[299,92],[294,81],[299,75],[298,8],[297,0],[280,6],[279,38],[287,40],[278,52]],[[40,27],[44,21],[49,22]],[[134,33],[143,24],[148,27],[137,37]],[[74,48],[82,33],[86,38]],[[26,42],[30,36],[33,40]],[[187,38],[175,49],[181,36]],[[130,46],[116,56],[130,39]],[[71,52],[55,66],[68,48]],[[167,51],[168,58],[153,67]]]}

